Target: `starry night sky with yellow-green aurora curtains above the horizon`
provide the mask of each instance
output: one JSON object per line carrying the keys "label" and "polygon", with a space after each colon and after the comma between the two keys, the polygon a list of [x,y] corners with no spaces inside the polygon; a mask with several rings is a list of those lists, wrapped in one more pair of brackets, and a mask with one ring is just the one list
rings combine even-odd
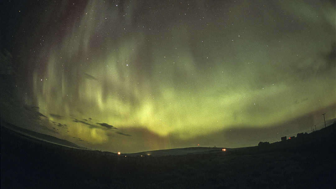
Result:
{"label": "starry night sky with yellow-green aurora curtains above the horizon", "polygon": [[83,147],[255,146],[336,117],[335,1],[6,0],[1,22],[1,119]]}

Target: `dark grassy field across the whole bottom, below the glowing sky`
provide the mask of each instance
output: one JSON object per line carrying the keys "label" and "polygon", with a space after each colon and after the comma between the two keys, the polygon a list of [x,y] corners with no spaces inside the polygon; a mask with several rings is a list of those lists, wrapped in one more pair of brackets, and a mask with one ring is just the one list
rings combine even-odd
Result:
{"label": "dark grassy field across the whole bottom, below the glowing sky", "polygon": [[125,157],[30,141],[1,127],[1,188],[336,186],[335,124],[304,138],[264,146],[189,150],[193,153]]}

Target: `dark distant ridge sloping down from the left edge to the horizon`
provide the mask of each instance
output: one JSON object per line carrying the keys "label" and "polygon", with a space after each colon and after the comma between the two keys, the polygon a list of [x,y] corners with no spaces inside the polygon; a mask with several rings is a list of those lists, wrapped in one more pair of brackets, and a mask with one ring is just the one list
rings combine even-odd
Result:
{"label": "dark distant ridge sloping down from the left edge to the horizon", "polygon": [[79,149],[83,149],[83,147],[78,146],[77,144],[74,144],[72,142],[69,142],[67,140],[64,139],[59,139],[50,135],[46,135],[46,134],[42,134],[42,133],[38,133],[35,131],[31,131],[28,129],[24,129],[24,128],[20,128],[17,127],[15,125],[12,125],[10,123],[7,123],[5,121],[0,120],[0,124],[1,124],[1,130],[5,129],[7,131],[11,131],[14,132],[14,134],[19,135],[19,136],[23,136],[25,138],[31,139],[31,140],[41,140],[41,141],[47,141],[50,143],[54,143],[54,144],[58,144],[58,145],[62,145],[62,146],[67,146],[67,147],[71,147],[71,148],[79,148]]}

